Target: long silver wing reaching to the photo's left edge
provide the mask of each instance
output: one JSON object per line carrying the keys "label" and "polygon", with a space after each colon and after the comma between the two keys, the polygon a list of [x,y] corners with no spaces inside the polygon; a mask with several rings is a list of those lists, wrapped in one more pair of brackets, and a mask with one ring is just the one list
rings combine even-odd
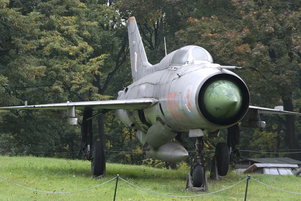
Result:
{"label": "long silver wing reaching to the photo's left edge", "polygon": [[75,109],[144,109],[157,104],[159,100],[154,98],[139,98],[139,99],[125,99],[125,100],[106,100],[106,101],[85,101],[85,102],[67,102],[67,103],[53,103],[42,105],[28,105],[28,106],[12,106],[0,107],[0,110],[68,110],[75,106]]}

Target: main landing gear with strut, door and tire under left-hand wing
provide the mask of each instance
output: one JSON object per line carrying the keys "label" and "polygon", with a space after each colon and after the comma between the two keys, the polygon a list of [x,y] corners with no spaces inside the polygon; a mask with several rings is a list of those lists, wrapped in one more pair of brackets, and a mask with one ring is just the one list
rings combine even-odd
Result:
{"label": "main landing gear with strut, door and tire under left-hand wing", "polygon": [[[105,175],[105,142],[104,140],[93,142],[92,134],[92,118],[103,114],[106,111],[101,111],[96,115],[92,115],[92,109],[85,109],[83,115],[83,121],[81,125],[81,141],[82,146],[77,154],[77,157],[80,155],[84,159],[91,161],[91,171],[94,176]],[[100,139],[103,139],[100,137]],[[92,147],[93,144],[93,147]]]}

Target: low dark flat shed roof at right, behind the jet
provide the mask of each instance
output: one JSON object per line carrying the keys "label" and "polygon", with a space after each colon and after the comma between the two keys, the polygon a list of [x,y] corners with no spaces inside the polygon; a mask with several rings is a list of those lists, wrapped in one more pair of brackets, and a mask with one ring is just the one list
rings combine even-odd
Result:
{"label": "low dark flat shed roof at right, behind the jet", "polygon": [[287,157],[282,157],[282,158],[247,158],[244,160],[238,161],[238,163],[277,163],[277,164],[297,164],[301,165],[301,161],[299,160],[294,160],[291,158]]}

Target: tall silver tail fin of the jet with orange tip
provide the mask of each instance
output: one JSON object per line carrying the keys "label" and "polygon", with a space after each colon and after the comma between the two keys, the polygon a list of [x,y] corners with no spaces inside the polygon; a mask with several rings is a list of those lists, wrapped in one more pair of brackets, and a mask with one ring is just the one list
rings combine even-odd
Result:
{"label": "tall silver tail fin of the jet with orange tip", "polygon": [[137,23],[134,17],[127,20],[127,31],[130,52],[130,64],[133,82],[147,75],[147,67],[151,67],[144,51]]}

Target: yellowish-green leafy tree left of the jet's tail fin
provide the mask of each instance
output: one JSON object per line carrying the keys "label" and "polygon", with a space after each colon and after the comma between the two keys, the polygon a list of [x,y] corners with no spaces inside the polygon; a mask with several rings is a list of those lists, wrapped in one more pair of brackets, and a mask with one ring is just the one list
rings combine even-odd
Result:
{"label": "yellowish-green leafy tree left of the jet's tail fin", "polygon": [[[97,37],[88,39],[99,34],[94,31],[99,23],[88,19],[87,5],[80,1],[2,1],[0,5],[3,18],[0,25],[3,28],[1,84],[5,92],[1,104],[20,105],[20,100],[44,104],[107,98],[98,94],[98,88],[93,86],[94,75],[99,73],[99,69],[106,70],[103,65],[109,55],[104,51],[95,53],[88,44],[95,44]],[[104,37],[102,39],[105,40]],[[29,113],[16,114],[24,117]],[[54,116],[54,119],[60,117],[61,121],[64,113],[38,111],[32,118],[42,119],[43,115]],[[8,117],[3,121],[8,121]],[[51,127],[58,126],[55,120],[51,124]],[[30,136],[31,128],[37,125],[27,126],[25,134]],[[17,135],[20,129],[12,126],[2,132],[14,130]],[[64,129],[69,127],[64,126]],[[43,134],[51,135],[51,131]],[[73,144],[73,138],[70,144]]]}

